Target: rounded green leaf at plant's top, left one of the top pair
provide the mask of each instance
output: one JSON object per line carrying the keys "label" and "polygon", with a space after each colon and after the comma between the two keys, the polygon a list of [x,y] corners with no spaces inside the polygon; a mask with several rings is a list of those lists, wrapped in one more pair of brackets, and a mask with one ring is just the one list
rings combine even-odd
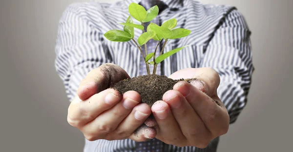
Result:
{"label": "rounded green leaf at plant's top, left one of the top pair", "polygon": [[142,5],[132,2],[128,7],[128,11],[134,19],[140,22],[146,19],[146,9]]}

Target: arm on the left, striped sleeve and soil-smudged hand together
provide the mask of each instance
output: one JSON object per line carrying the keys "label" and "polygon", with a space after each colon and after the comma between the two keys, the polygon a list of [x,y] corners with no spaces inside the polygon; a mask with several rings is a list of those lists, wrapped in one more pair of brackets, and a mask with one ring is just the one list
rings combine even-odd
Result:
{"label": "arm on the left, striped sleeve and soil-smudged hand together", "polygon": [[134,134],[151,114],[150,107],[140,103],[140,95],[134,91],[120,95],[107,89],[129,76],[121,67],[106,63],[112,57],[99,29],[84,17],[84,8],[71,5],[65,10],[57,38],[56,68],[71,100],[68,123],[90,141],[154,138],[153,129]]}

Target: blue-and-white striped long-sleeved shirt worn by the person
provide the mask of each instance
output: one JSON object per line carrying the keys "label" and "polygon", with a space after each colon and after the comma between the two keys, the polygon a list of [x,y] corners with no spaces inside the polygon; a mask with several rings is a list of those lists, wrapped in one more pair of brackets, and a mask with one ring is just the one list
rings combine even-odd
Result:
{"label": "blue-and-white striped long-sleeved shirt worn by the person", "polygon": [[[188,37],[170,39],[165,53],[190,47],[168,57],[161,64],[161,75],[169,76],[184,68],[211,67],[221,78],[218,95],[230,115],[230,123],[247,103],[253,65],[251,32],[235,7],[202,4],[194,0],[163,0],[168,8],[160,13],[163,21],[176,18],[177,28],[191,30]],[[139,76],[141,55],[132,41],[112,42],[105,32],[121,29],[128,6],[140,0],[123,0],[114,4],[75,3],[67,7],[59,23],[56,44],[56,69],[62,78],[69,100],[76,95],[80,81],[100,65],[111,62],[121,66],[130,77]],[[135,39],[142,31],[135,29]],[[165,152],[216,152],[219,137],[206,149],[165,145]],[[84,152],[135,152],[136,142],[125,140],[85,140]]]}

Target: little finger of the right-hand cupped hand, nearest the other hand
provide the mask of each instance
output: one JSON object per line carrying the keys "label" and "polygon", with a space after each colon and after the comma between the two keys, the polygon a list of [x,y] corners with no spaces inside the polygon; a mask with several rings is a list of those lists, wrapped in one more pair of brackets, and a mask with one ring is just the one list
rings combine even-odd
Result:
{"label": "little finger of the right-hand cupped hand, nearest the other hand", "polygon": [[155,127],[158,131],[158,135],[156,136],[157,139],[160,139],[167,144],[177,143],[177,145],[186,141],[186,138],[181,132],[180,126],[166,102],[155,102],[151,107],[151,110],[158,124],[158,126]]}

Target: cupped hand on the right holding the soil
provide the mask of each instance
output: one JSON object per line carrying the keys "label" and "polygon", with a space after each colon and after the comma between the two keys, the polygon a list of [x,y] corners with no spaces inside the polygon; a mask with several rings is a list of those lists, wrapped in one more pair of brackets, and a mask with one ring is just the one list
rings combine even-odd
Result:
{"label": "cupped hand on the right holding the soil", "polygon": [[198,80],[178,82],[151,107],[157,139],[179,147],[206,148],[212,139],[228,132],[230,117],[217,95],[220,78],[216,71],[188,68],[169,77]]}

